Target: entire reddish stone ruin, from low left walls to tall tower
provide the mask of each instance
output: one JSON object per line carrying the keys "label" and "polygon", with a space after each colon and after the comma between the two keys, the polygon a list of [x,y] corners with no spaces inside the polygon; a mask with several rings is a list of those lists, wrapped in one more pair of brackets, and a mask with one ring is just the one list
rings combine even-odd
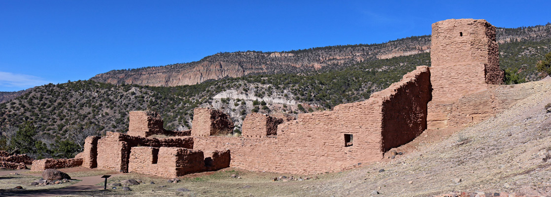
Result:
{"label": "entire reddish stone ruin, from low left walls to tall tower", "polygon": [[[158,113],[135,111],[129,113],[127,134],[91,136],[79,158],[89,168],[164,177],[229,166],[314,174],[380,161],[386,151],[408,143],[427,128],[472,122],[468,120],[472,115],[457,117],[453,110],[480,105],[469,98],[499,98],[483,91],[503,81],[495,28],[487,21],[437,22],[432,47],[432,67],[417,67],[366,101],[302,113],[297,119],[251,113],[242,124],[241,136],[229,135],[234,129],[231,118],[212,108],[195,108],[193,127],[186,132],[165,130]],[[496,112],[477,114],[489,117]]]}

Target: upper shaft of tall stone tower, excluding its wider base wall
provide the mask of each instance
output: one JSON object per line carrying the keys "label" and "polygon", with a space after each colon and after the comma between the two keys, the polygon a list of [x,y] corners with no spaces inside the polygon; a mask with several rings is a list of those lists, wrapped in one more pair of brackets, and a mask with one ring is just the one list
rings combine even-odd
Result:
{"label": "upper shaft of tall stone tower, excluding its wider base wall", "polygon": [[486,84],[503,83],[495,26],[486,20],[438,21],[430,47],[433,100],[457,100],[486,89]]}

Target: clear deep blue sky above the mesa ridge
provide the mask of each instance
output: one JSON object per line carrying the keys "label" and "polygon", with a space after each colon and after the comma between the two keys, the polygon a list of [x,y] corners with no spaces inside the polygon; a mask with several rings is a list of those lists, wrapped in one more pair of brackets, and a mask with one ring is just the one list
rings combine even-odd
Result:
{"label": "clear deep blue sky above the mesa ridge", "polygon": [[551,22],[551,1],[0,1],[0,91],[218,52],[288,51],[430,34],[450,18]]}

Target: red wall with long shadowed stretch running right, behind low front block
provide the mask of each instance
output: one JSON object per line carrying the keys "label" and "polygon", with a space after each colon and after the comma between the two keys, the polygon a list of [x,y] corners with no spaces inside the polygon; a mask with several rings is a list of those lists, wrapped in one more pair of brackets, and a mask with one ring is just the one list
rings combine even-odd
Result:
{"label": "red wall with long shadowed stretch running right, behind low front block", "polygon": [[142,138],[122,133],[107,132],[98,140],[96,157],[99,169],[128,172],[130,150],[134,146],[184,147],[193,149],[193,139],[174,137],[165,139]]}

